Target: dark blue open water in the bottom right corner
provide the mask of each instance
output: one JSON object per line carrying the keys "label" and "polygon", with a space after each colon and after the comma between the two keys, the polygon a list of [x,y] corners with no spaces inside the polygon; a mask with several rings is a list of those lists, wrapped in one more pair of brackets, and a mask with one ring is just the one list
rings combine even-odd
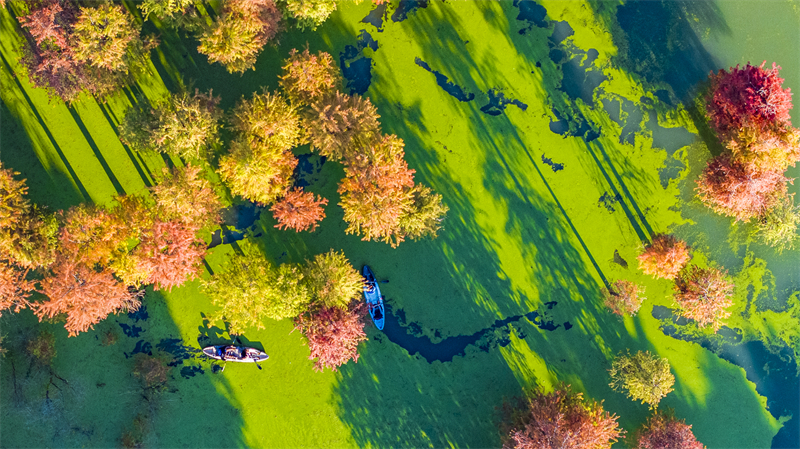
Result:
{"label": "dark blue open water in the bottom right corner", "polygon": [[653,307],[653,317],[661,320],[661,331],[672,338],[697,343],[723,360],[744,368],[747,380],[767,398],[767,409],[775,418],[789,416],[772,439],[773,448],[800,447],[800,378],[797,360],[790,348],[770,351],[760,340],[742,343],[738,329],[722,327],[716,335],[693,335],[684,326],[689,321],[663,306]]}

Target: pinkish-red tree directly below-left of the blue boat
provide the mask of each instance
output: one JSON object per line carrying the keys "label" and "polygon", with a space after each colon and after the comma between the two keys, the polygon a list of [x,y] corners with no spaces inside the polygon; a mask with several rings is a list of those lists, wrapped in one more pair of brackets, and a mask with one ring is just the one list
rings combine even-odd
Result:
{"label": "pinkish-red tree directly below-left of the blue boat", "polygon": [[358,344],[367,339],[364,333],[366,306],[354,302],[350,307],[321,307],[300,315],[296,328],[308,339],[309,359],[317,359],[314,369],[336,371],[349,360],[358,362]]}

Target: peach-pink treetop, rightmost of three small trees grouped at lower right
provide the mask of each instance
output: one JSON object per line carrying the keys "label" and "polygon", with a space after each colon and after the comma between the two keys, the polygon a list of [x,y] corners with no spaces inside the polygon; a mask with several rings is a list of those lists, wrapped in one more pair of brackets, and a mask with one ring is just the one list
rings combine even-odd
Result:
{"label": "peach-pink treetop, rightmost of three small trees grouped at lower right", "polygon": [[695,320],[700,327],[711,326],[716,332],[731,315],[734,284],[727,273],[717,268],[690,267],[675,283],[675,302],[681,315]]}

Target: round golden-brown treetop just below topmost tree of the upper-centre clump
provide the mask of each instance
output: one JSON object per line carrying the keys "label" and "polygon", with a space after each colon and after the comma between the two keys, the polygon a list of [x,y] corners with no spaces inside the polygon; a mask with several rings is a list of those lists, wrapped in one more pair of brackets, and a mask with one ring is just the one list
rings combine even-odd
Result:
{"label": "round golden-brown treetop just below topmost tree of the upper-centre clump", "polygon": [[369,98],[336,92],[311,105],[305,114],[306,132],[319,154],[347,161],[378,138],[378,118]]}

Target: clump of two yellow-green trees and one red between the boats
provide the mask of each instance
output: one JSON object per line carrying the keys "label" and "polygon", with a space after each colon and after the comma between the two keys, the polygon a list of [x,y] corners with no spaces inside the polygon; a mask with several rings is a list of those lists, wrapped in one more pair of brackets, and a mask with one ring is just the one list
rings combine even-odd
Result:
{"label": "clump of two yellow-green trees and one red between the boats", "polygon": [[211,320],[224,320],[230,332],[264,328],[264,320],[292,318],[306,336],[315,368],[334,371],[358,360],[366,310],[360,300],[363,278],[344,253],[331,250],[305,264],[275,266],[251,244],[228,259],[224,270],[203,281],[220,309]]}

